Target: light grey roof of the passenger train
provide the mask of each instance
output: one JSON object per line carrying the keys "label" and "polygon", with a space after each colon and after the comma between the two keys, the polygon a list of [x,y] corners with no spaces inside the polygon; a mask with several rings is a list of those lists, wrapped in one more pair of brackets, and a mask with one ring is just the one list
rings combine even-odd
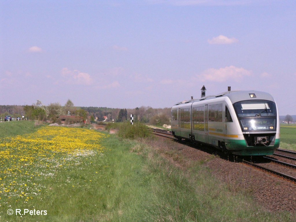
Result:
{"label": "light grey roof of the passenger train", "polygon": [[[253,94],[253,97],[251,97],[252,94]],[[255,96],[254,96],[254,94],[255,94]],[[243,101],[243,100],[250,100],[250,99],[254,99],[254,100],[263,99],[263,100],[269,100],[269,101],[274,102],[274,98],[269,93],[255,91],[255,90],[249,90],[249,91],[226,91],[223,93],[219,93],[215,96],[206,96],[206,97],[202,97],[200,99],[184,100],[182,102],[176,103],[175,106],[181,105],[181,104],[186,104],[186,103],[193,103],[193,102],[208,100],[208,99],[215,99],[215,98],[223,97],[223,96],[229,97],[232,104],[235,102],[239,102],[239,101]]]}

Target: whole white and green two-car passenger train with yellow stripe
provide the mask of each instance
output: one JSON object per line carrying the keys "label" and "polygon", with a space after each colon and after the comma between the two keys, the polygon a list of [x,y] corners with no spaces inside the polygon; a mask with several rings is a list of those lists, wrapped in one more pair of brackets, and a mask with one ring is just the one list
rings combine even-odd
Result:
{"label": "whole white and green two-car passenger train with yellow stripe", "polygon": [[171,108],[176,139],[208,144],[234,155],[272,155],[280,144],[279,128],[276,102],[261,91],[226,91]]}

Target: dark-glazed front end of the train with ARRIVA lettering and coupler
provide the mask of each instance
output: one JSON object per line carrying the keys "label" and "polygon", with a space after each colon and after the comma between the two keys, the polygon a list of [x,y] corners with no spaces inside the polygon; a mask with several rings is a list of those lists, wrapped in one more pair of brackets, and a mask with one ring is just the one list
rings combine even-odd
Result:
{"label": "dark-glazed front end of the train with ARRIVA lettering and coupler", "polygon": [[268,100],[252,99],[233,104],[248,155],[271,155],[279,147],[276,138],[276,104]]}

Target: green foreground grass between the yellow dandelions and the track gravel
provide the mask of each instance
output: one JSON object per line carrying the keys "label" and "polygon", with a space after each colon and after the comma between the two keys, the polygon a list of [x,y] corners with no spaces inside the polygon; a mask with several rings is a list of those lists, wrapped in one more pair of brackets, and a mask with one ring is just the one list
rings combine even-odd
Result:
{"label": "green foreground grass between the yellow dandelions and the track gravel", "polygon": [[[62,167],[54,168],[54,176],[37,178],[40,195],[27,202],[16,202],[15,197],[0,194],[0,221],[273,222],[295,219],[289,213],[268,213],[248,195],[231,192],[227,184],[215,179],[202,163],[188,162],[182,170],[155,147],[116,135],[102,139],[101,144],[105,147],[104,155],[79,156],[75,164],[67,156],[64,159],[56,156],[55,159],[62,161],[57,162]],[[177,154],[171,151],[173,159],[183,158],[180,152],[175,152]],[[48,161],[42,160],[40,164],[48,173],[53,172]],[[30,170],[29,174],[33,173],[34,169]],[[31,186],[26,176],[22,182]],[[47,215],[8,216],[8,209],[46,210]]]}

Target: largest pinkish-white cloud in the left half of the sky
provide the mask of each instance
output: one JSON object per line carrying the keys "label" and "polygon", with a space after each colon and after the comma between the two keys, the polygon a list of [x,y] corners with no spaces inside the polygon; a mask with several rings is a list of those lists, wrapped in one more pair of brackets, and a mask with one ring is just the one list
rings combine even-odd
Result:
{"label": "largest pinkish-white cloud in the left half of the sky", "polygon": [[80,72],[79,70],[69,70],[68,68],[63,68],[61,70],[62,77],[65,78],[65,82],[74,83],[78,85],[90,85],[92,80],[88,73]]}

